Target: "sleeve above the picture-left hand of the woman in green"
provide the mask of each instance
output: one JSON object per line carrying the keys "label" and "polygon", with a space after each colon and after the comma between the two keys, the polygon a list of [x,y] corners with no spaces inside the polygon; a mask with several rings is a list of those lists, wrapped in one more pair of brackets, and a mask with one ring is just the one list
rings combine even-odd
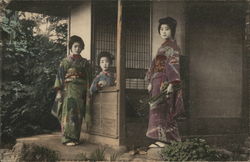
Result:
{"label": "sleeve above the picture-left hand of the woman in green", "polygon": [[56,74],[56,80],[54,84],[55,90],[62,90],[63,89],[63,83],[65,79],[65,67],[64,62],[61,61],[60,66],[58,68],[57,74]]}

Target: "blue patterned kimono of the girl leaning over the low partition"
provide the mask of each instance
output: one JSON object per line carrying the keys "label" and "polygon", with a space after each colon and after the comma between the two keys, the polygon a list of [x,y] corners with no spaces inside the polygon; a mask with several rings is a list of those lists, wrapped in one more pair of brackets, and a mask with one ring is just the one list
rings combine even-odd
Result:
{"label": "blue patterned kimono of the girl leaning over the low partition", "polygon": [[90,87],[90,95],[93,95],[100,89],[98,85],[100,81],[103,81],[105,83],[104,87],[115,85],[114,75],[111,72],[102,71],[93,80],[91,87]]}

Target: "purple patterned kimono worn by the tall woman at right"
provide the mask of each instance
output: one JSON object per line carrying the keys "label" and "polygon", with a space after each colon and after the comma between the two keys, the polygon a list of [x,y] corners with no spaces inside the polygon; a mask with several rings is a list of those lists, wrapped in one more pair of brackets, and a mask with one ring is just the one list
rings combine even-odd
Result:
{"label": "purple patterned kimono worn by the tall woman at right", "polygon": [[[180,84],[180,48],[175,40],[166,40],[158,49],[146,78],[152,84],[151,97],[160,94],[164,82]],[[184,111],[182,91],[174,91],[168,98],[150,105],[146,136],[158,141],[180,141],[176,117]]]}

